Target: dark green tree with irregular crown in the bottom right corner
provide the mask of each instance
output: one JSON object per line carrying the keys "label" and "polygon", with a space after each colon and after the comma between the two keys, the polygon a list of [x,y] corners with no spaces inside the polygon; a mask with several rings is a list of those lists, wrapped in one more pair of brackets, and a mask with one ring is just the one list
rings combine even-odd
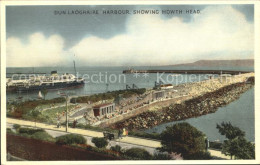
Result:
{"label": "dark green tree with irregular crown in the bottom right corner", "polygon": [[232,126],[230,122],[217,124],[217,129],[228,139],[222,145],[222,153],[229,155],[231,159],[233,156],[236,159],[255,159],[255,146],[245,139],[244,131]]}

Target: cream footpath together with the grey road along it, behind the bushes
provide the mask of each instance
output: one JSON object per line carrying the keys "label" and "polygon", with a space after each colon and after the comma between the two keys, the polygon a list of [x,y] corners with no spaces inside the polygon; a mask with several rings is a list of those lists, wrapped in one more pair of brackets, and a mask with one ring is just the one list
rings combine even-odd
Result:
{"label": "cream footpath together with the grey road along it, behind the bushes", "polygon": [[[35,126],[35,122],[32,121],[7,118],[7,127],[12,128],[13,124],[20,124],[29,127]],[[94,144],[91,143],[92,137],[104,137],[102,132],[83,130],[78,128],[69,128],[67,133],[65,132],[65,127],[57,128],[56,125],[50,125],[44,123],[36,123],[36,127],[45,129],[53,137],[61,136],[68,133],[83,135],[87,139],[87,143],[92,146],[94,146]],[[157,147],[161,147],[160,141],[130,137],[130,136],[123,137],[122,139],[110,141],[108,148],[110,146],[115,146],[115,145],[120,145],[122,148],[125,149],[132,148],[132,147],[144,148],[151,154],[155,152]],[[222,159],[230,159],[228,156],[223,155],[220,151],[209,150],[209,152],[211,153],[212,156],[222,158]]]}

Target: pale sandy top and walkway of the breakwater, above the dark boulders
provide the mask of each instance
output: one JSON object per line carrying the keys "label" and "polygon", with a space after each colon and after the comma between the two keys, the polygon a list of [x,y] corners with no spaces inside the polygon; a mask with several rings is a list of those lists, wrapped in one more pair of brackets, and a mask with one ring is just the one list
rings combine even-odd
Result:
{"label": "pale sandy top and walkway of the breakwater, above the dark boulders", "polygon": [[[207,93],[215,92],[223,87],[230,86],[232,84],[242,83],[246,85],[246,82],[248,82],[248,80],[250,80],[249,83],[254,83],[254,73],[246,73],[241,75],[234,75],[231,77],[219,77],[200,82],[179,84],[174,87],[174,89],[178,90],[178,92],[174,92],[173,98],[158,100],[155,102],[151,102],[150,104],[145,104],[142,107],[133,109],[126,114],[117,115],[114,118],[103,120],[99,123],[99,126],[117,127],[117,124],[115,125],[114,123],[121,123],[123,121],[130,120],[133,117],[139,116],[144,112],[155,113],[150,112],[152,109],[154,109],[154,107],[160,107],[160,109],[163,109],[162,107],[168,107],[171,104],[180,104],[184,101],[203,96]],[[225,93],[222,93],[222,95],[225,95]],[[160,111],[161,110],[158,110],[158,112]]]}

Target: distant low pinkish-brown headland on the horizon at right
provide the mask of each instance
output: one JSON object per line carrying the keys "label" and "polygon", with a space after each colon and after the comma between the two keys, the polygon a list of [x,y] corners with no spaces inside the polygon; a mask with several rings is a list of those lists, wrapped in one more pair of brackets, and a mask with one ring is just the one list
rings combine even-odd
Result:
{"label": "distant low pinkish-brown headland on the horizon at right", "polygon": [[193,63],[176,64],[171,66],[254,67],[254,60],[199,60]]}

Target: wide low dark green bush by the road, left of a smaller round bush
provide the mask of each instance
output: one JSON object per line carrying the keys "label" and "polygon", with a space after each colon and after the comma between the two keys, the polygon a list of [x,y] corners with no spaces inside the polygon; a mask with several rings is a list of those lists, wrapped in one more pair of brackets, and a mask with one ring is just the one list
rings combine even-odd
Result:
{"label": "wide low dark green bush by the road, left of a smaller round bush", "polygon": [[63,136],[56,137],[57,144],[85,144],[86,139],[81,135],[67,134]]}

